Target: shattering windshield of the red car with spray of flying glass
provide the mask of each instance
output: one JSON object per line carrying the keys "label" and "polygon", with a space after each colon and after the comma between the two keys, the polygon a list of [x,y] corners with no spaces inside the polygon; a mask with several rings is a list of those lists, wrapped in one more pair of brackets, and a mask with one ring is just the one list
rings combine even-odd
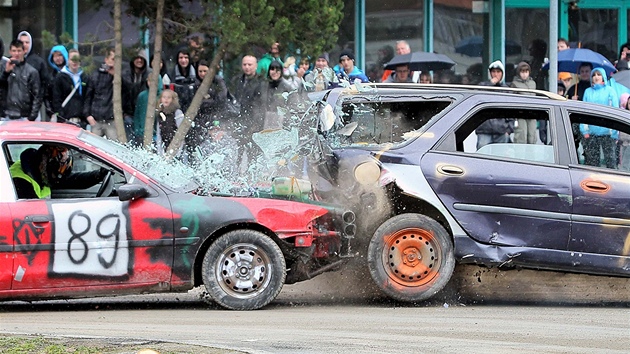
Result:
{"label": "shattering windshield of the red car with spray of flying glass", "polygon": [[255,146],[239,146],[238,140],[226,133],[206,139],[194,156],[171,160],[155,151],[128,147],[87,132],[79,139],[175,191],[261,195],[273,192],[274,178],[308,178],[308,159],[317,148],[315,112],[310,108],[306,112],[284,110],[283,129],[254,133],[251,141]]}

